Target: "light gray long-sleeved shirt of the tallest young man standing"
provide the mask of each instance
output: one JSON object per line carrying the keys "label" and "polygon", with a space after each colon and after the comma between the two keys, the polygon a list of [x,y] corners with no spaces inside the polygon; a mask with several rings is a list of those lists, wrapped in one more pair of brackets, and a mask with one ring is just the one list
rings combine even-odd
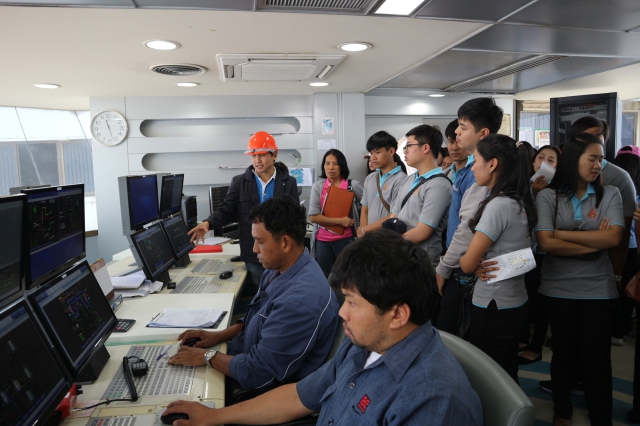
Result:
{"label": "light gray long-sleeved shirt of the tallest young man standing", "polygon": [[460,267],[460,258],[467,252],[469,243],[473,238],[473,232],[469,229],[469,220],[471,220],[478,211],[480,202],[487,198],[489,188],[486,186],[478,186],[477,183],[471,185],[462,197],[462,205],[460,206],[460,225],[456,229],[451,244],[447,248],[447,252],[440,259],[440,263],[436,267],[436,272],[443,278],[449,278],[454,269]]}

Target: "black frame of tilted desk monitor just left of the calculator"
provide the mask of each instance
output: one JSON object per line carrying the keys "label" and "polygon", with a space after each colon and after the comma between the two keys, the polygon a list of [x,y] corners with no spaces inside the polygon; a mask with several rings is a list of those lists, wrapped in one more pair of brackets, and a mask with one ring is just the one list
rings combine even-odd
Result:
{"label": "black frame of tilted desk monitor just left of the calculator", "polygon": [[[40,305],[38,304],[36,298],[37,298],[37,296],[39,294],[41,294],[44,291],[48,290],[50,287],[53,287],[54,285],[58,284],[60,281],[62,281],[65,278],[67,278],[67,276],[69,276],[70,274],[73,274],[74,272],[76,272],[77,270],[79,270],[82,267],[86,267],[88,269],[89,276],[91,278],[93,278],[92,282],[95,284],[96,288],[98,289],[98,293],[104,297],[103,300],[104,300],[105,305],[108,308],[108,312],[111,314],[110,315],[111,318],[108,321],[107,327],[105,328],[104,332],[101,333],[101,335],[98,338],[95,338],[91,342],[91,348],[92,349],[90,351],[88,351],[81,360],[79,360],[79,363],[76,362],[77,365],[74,365],[74,360],[69,359],[69,357],[66,355],[66,353],[65,353],[65,351],[64,351],[64,349],[62,347],[63,346],[62,342],[56,337],[55,331],[51,329],[49,321],[45,318],[46,314],[40,308]],[[73,265],[71,268],[67,269],[66,271],[64,271],[61,274],[57,275],[56,277],[52,278],[47,283],[45,283],[44,285],[39,287],[37,290],[35,290],[32,293],[30,293],[27,296],[27,299],[29,301],[29,304],[33,307],[33,311],[35,312],[36,317],[38,318],[38,320],[40,320],[40,322],[42,324],[42,327],[45,329],[47,334],[50,336],[54,347],[56,348],[56,350],[60,354],[60,357],[62,358],[62,360],[63,360],[64,364],[66,365],[67,369],[69,370],[69,372],[71,373],[72,378],[74,380],[76,380],[78,378],[78,374],[82,370],[82,368],[87,364],[88,361],[91,360],[92,355],[98,349],[100,349],[101,346],[104,346],[104,343],[106,342],[106,340],[109,338],[109,336],[111,335],[113,330],[118,325],[118,319],[116,318],[116,315],[113,312],[113,309],[111,309],[111,305],[109,304],[109,301],[104,296],[104,293],[102,293],[102,289],[100,288],[100,284],[98,283],[98,280],[96,279],[95,275],[93,274],[93,271],[91,270],[91,266],[89,266],[89,263],[86,260],[83,260],[82,262],[79,262],[79,263]]]}

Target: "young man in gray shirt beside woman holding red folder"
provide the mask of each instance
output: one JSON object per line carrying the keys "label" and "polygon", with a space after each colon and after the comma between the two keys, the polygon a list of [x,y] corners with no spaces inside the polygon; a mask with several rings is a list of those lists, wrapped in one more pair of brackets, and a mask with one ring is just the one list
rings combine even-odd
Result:
{"label": "young man in gray shirt beside woman holding red folder", "polygon": [[366,232],[382,228],[382,222],[391,215],[391,206],[397,198],[400,185],[407,177],[401,166],[394,161],[393,156],[397,150],[398,141],[384,130],[374,133],[367,141],[369,164],[375,171],[364,181],[359,238]]}

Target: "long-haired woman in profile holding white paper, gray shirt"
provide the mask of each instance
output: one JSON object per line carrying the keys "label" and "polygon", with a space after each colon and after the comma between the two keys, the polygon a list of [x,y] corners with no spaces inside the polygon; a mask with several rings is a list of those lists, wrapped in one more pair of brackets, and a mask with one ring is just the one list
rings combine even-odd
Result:
{"label": "long-haired woman in profile holding white paper, gray shirt", "polygon": [[[529,189],[531,161],[526,147],[508,136],[493,134],[476,148],[473,174],[479,186],[489,187],[470,221],[474,236],[460,268],[481,278],[473,290],[471,343],[493,358],[518,381],[518,338],[526,315],[524,275],[489,283],[481,262],[531,247],[537,221]],[[490,268],[489,270],[495,270]]]}

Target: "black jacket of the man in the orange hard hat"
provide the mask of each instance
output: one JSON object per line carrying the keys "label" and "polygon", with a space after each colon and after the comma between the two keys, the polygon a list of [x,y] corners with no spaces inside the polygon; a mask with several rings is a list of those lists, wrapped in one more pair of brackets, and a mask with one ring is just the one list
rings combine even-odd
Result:
{"label": "black jacket of the man in the orange hard hat", "polygon": [[[286,166],[275,164],[276,181],[273,188],[273,196],[289,194],[294,200],[300,202],[298,185],[295,178],[289,175]],[[205,220],[209,222],[209,228],[219,228],[228,223],[238,222],[240,228],[240,257],[246,263],[260,263],[258,256],[253,252],[253,237],[251,236],[251,222],[247,219],[251,207],[260,204],[256,177],[253,174],[253,166],[238,176],[234,176],[229,185],[227,196],[220,204],[220,208]]]}

